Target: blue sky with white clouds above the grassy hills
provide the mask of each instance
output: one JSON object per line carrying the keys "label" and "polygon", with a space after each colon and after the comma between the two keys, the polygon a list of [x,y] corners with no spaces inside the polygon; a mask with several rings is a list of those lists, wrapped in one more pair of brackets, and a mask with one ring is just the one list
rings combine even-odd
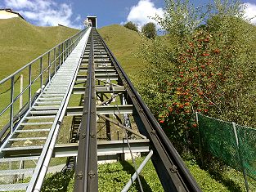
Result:
{"label": "blue sky with white clouds above the grassy hills", "polygon": [[[191,0],[195,6],[210,0]],[[256,0],[244,0],[246,14],[256,15]],[[97,16],[98,27],[133,21],[138,26],[150,21],[148,16],[163,14],[164,0],[0,0],[0,7],[19,11],[30,23],[40,26],[67,25],[82,28],[87,16]],[[256,24],[256,19],[253,20]]]}

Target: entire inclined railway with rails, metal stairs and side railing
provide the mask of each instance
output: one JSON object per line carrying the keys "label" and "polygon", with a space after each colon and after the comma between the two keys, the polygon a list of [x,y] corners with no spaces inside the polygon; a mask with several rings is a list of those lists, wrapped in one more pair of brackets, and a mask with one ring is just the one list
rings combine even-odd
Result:
{"label": "entire inclined railway with rails, metal stairs and side railing", "polygon": [[[22,70],[28,85],[14,94]],[[0,86],[8,82],[11,101],[0,113],[0,121],[9,119],[0,132],[0,191],[42,190],[51,159],[60,157],[66,158],[65,169],[74,169],[74,191],[98,191],[98,163],[116,159],[132,159],[136,170],[122,191],[135,180],[143,191],[140,172],[150,159],[164,191],[201,191],[95,27],[47,51]],[[27,102],[16,110],[22,95]],[[59,144],[65,117],[72,121],[70,140]],[[134,161],[138,154],[146,154],[141,165]]]}

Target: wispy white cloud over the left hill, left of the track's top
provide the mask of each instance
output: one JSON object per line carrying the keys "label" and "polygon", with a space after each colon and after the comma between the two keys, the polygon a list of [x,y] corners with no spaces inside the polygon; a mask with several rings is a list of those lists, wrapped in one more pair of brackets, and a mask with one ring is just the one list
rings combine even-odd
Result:
{"label": "wispy white cloud over the left hill, left of the track's top", "polygon": [[36,25],[56,26],[58,24],[82,28],[81,16],[73,16],[71,4],[57,3],[55,0],[5,0],[5,6],[20,12],[25,19],[33,20]]}

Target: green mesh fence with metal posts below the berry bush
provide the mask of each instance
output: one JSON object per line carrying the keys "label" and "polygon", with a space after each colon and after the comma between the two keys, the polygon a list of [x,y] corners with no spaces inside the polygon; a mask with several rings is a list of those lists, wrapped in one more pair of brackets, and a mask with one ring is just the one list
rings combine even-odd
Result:
{"label": "green mesh fence with metal posts below the berry bush", "polygon": [[[256,191],[256,129],[197,114],[201,154],[239,171],[246,191]],[[221,170],[219,170],[221,171]]]}

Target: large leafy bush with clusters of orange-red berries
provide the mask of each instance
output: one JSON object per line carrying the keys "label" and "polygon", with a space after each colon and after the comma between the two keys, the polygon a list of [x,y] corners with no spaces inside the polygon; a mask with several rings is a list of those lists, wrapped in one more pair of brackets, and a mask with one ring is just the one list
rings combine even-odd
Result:
{"label": "large leafy bush with clusters of orange-red berries", "polygon": [[209,7],[168,0],[158,18],[167,34],[141,47],[148,63],[142,96],[179,152],[197,149],[196,111],[256,125],[254,26],[238,2]]}

